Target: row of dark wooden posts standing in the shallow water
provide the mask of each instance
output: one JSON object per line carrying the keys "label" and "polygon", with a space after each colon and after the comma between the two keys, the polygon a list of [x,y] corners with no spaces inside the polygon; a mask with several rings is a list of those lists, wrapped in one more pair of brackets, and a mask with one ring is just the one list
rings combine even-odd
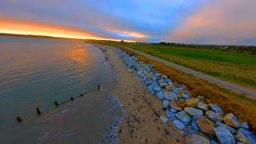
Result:
{"label": "row of dark wooden posts standing in the shallow water", "polygon": [[[68,99],[68,100],[66,100],[64,102],[58,103],[57,101],[55,101],[54,105],[57,107],[57,106],[60,106],[60,105],[62,105],[64,103],[66,103],[66,102],[74,101],[74,99],[82,97],[83,95],[89,94],[89,93],[93,92],[94,90],[98,90],[98,89],[100,89],[99,85],[97,87],[95,87],[93,90],[88,90],[85,93],[78,95],[77,97],[70,97],[70,99]],[[41,110],[38,107],[35,110],[36,110],[36,114],[38,114],[38,115],[42,114]],[[22,118],[20,116],[16,117],[16,120],[17,120],[17,122],[22,122]]]}

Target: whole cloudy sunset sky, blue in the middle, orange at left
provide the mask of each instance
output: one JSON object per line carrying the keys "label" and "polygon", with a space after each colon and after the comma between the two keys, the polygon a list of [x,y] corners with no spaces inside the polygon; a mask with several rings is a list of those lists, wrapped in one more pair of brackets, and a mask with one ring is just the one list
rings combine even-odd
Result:
{"label": "whole cloudy sunset sky, blue in the middle, orange at left", "polygon": [[0,33],[256,45],[255,0],[1,0]]}

